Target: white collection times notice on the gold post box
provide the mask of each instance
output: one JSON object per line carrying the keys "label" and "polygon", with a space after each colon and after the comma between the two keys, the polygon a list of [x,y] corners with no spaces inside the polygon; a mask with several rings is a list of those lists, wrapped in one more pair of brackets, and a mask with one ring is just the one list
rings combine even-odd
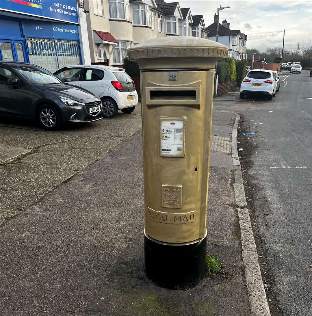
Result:
{"label": "white collection times notice on the gold post box", "polygon": [[185,120],[161,120],[162,156],[184,157],[184,122]]}

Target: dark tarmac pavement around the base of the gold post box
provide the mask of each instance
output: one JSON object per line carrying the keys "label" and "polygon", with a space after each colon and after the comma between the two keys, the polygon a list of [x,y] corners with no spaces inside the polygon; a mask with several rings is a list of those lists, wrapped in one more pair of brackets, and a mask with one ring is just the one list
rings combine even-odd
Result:
{"label": "dark tarmac pavement around the base of the gold post box", "polygon": [[[138,132],[0,229],[0,315],[251,315],[231,151],[221,145],[230,144],[234,121],[213,111],[207,251],[222,259],[226,277],[172,291],[144,275]],[[174,273],[165,258],[164,273]]]}

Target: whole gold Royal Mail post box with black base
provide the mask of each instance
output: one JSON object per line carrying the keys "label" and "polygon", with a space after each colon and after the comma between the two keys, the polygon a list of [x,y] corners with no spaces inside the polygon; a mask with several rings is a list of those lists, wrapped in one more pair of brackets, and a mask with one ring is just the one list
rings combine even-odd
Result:
{"label": "whole gold Royal Mail post box with black base", "polygon": [[127,51],[141,75],[145,271],[166,288],[205,276],[214,74],[227,53],[217,42],[185,36]]}

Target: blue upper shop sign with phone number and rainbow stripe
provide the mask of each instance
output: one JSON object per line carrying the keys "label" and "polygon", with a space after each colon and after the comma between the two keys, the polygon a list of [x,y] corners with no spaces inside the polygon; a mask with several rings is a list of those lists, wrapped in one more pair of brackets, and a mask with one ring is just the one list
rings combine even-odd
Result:
{"label": "blue upper shop sign with phone number and rainbow stripe", "polygon": [[78,24],[77,0],[1,0],[0,9]]}

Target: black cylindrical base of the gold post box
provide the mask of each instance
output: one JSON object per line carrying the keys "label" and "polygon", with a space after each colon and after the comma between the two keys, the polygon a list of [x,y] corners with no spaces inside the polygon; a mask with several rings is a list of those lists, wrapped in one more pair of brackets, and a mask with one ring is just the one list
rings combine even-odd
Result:
{"label": "black cylindrical base of the gold post box", "polygon": [[196,286],[206,273],[207,236],[190,244],[167,244],[152,240],[144,232],[145,273],[167,289]]}

